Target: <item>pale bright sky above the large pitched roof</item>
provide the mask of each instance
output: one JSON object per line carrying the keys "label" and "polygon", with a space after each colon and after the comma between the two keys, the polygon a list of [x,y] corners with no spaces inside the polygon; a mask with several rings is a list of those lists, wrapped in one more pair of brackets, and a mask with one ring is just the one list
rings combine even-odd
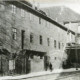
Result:
{"label": "pale bright sky above the large pitched roof", "polygon": [[80,14],[80,0],[30,0],[41,8],[51,6],[67,6]]}

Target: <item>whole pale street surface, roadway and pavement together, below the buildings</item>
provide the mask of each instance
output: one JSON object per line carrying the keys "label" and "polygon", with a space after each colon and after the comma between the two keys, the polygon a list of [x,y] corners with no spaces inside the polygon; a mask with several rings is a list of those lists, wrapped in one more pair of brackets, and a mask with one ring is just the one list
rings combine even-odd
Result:
{"label": "whole pale street surface, roadway and pavement together, below the buildings", "polygon": [[2,76],[0,80],[80,80],[80,69],[57,69],[22,75]]}

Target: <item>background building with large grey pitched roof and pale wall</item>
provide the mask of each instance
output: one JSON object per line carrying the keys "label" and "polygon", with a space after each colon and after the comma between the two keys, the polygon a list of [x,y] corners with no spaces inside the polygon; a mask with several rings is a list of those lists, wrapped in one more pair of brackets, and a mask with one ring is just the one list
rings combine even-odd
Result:
{"label": "background building with large grey pitched roof and pale wall", "polygon": [[[68,29],[73,30],[76,33],[78,32],[80,25],[80,14],[65,6],[42,8],[42,10],[44,10],[44,12],[46,12],[46,14],[53,20],[56,20],[62,25],[65,25]],[[73,40],[71,39],[71,33],[69,33],[68,37],[70,38],[68,42],[71,42]],[[75,42],[75,40],[73,40],[73,42]]]}

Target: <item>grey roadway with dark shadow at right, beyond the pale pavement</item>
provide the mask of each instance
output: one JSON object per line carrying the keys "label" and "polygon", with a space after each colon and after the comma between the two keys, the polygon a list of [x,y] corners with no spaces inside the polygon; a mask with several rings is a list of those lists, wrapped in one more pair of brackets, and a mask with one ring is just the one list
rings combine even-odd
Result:
{"label": "grey roadway with dark shadow at right, beyond the pale pavement", "polygon": [[20,80],[80,80],[80,72],[55,73]]}

